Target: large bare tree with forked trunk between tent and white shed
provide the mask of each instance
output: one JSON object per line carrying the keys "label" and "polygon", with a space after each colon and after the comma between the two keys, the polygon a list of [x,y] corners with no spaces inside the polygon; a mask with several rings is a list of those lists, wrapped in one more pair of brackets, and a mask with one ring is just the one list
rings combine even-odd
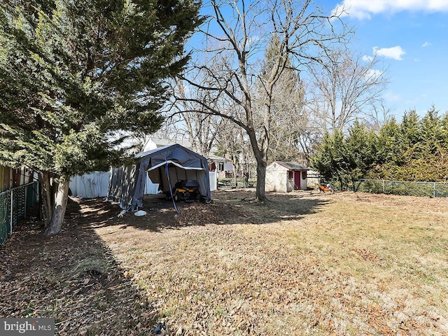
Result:
{"label": "large bare tree with forked trunk between tent and white shed", "polygon": [[[324,62],[335,45],[345,42],[346,27],[311,0],[211,0],[210,6],[210,20],[202,29],[207,48],[193,55],[183,76],[187,85],[207,94],[183,100],[244,129],[257,161],[256,197],[264,202],[274,87],[291,64],[300,71]],[[260,58],[272,36],[278,37],[276,52],[262,76]],[[254,110],[255,86],[263,90],[259,111]],[[226,108],[230,105],[238,106],[237,113]]]}

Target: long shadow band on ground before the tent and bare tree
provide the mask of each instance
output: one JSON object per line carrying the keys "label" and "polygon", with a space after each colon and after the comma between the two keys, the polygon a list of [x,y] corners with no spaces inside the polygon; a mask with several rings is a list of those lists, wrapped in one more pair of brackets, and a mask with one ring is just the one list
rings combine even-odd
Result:
{"label": "long shadow band on ground before the tent and bare tree", "polygon": [[[325,195],[326,196],[326,195]],[[121,228],[132,226],[141,230],[159,232],[162,229],[179,229],[192,225],[233,225],[233,224],[267,224],[279,221],[300,221],[307,214],[314,214],[331,201],[331,197],[321,197],[316,193],[267,193],[268,202],[255,202],[253,190],[218,191],[212,193],[214,202],[179,202],[176,207],[165,197],[147,196],[144,198],[142,217],[133,214],[104,223]],[[111,205],[111,212],[118,214],[118,206]]]}

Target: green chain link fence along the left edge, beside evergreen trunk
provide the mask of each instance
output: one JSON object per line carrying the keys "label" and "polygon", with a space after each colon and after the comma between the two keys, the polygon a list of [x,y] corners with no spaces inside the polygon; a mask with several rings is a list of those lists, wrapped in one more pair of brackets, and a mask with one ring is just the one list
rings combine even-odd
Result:
{"label": "green chain link fence along the left edge, beside evergreen trunk", "polygon": [[0,246],[38,200],[37,182],[0,193]]}

